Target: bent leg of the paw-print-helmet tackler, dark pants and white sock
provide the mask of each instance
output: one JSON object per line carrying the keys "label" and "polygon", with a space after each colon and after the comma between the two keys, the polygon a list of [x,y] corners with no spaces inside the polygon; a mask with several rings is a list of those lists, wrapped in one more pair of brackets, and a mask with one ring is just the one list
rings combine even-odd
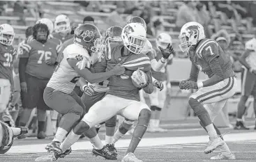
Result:
{"label": "bent leg of the paw-print-helmet tackler, dark pants and white sock", "polygon": [[84,114],[84,108],[74,99],[75,95],[75,92],[66,94],[52,88],[45,88],[43,94],[45,104],[63,115],[52,143],[46,147],[50,152],[61,153],[59,148],[61,142]]}

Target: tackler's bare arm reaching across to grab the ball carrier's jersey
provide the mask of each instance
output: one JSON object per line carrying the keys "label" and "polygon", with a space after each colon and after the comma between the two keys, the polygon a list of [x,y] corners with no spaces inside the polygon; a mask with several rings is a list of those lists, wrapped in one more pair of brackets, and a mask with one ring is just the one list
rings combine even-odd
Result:
{"label": "tackler's bare arm reaching across to grab the ball carrier's jersey", "polygon": [[110,76],[114,75],[121,75],[124,73],[125,69],[121,65],[116,65],[112,70],[107,72],[100,72],[93,74],[91,71],[87,68],[84,68],[80,70],[80,68],[77,66],[77,59],[75,58],[68,58],[68,63],[71,67],[75,69],[75,71],[80,74],[86,81],[89,83],[98,83],[101,81],[105,81],[110,78]]}

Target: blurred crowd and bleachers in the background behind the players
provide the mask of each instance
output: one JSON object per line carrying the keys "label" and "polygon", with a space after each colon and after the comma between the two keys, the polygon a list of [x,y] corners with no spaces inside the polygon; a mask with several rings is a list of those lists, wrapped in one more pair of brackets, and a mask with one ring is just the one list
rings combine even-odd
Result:
{"label": "blurred crowd and bleachers in the background behind the players", "polygon": [[[179,94],[183,93],[175,89],[178,81],[186,79],[189,74],[189,70],[186,74],[172,73],[172,71],[179,70],[179,66],[186,66],[189,62],[188,56],[179,50],[181,26],[186,22],[199,22],[204,26],[206,38],[215,40],[220,37],[224,38],[219,39],[218,42],[229,54],[233,61],[234,71],[241,80],[239,57],[245,51],[245,42],[255,37],[255,8],[256,1],[0,1],[0,23],[13,26],[15,29],[13,45],[17,48],[17,45],[26,38],[27,27],[33,26],[41,18],[49,18],[54,22],[57,15],[64,14],[72,23],[82,23],[83,20],[91,21],[104,33],[110,26],[124,26],[132,16],[142,17],[147,26],[147,38],[153,47],[156,46],[156,37],[160,33],[169,33],[172,37],[172,46],[176,51],[174,63],[168,67],[172,69],[170,72],[172,94],[167,98],[165,107],[168,110],[162,115],[162,119],[175,120],[176,118],[171,116],[178,113],[174,110],[175,107],[178,108],[177,106],[186,107],[184,110],[186,113],[176,115],[180,117],[179,119],[187,118],[188,115],[193,116],[184,104],[172,103]],[[187,66],[189,69],[190,65]],[[17,67],[15,68],[17,71]],[[204,78],[205,76],[201,76],[201,79]],[[237,92],[237,95],[239,93]],[[187,97],[189,92],[185,94]],[[12,109],[12,105],[9,109],[13,112],[15,110],[17,112],[18,109],[22,111],[22,105],[19,102],[15,107],[16,109]],[[234,112],[227,111],[226,114],[235,115],[236,107],[234,105],[234,108],[230,108],[234,109]],[[13,119],[19,120],[19,113]],[[28,123],[27,126],[32,128],[33,122],[36,122],[36,116],[32,115],[30,121],[32,121],[31,124]],[[14,122],[18,123],[18,121]],[[231,127],[228,124],[226,126]],[[33,129],[35,130],[36,126]]]}

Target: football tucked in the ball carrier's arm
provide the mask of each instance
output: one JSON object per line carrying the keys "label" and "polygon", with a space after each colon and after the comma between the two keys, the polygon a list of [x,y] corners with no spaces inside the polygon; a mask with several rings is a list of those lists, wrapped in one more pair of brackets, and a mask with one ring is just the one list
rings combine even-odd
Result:
{"label": "football tucked in the ball carrier's arm", "polygon": [[133,72],[133,75],[131,76],[133,80],[133,85],[137,88],[144,88],[147,86],[148,78],[142,70],[136,70]]}

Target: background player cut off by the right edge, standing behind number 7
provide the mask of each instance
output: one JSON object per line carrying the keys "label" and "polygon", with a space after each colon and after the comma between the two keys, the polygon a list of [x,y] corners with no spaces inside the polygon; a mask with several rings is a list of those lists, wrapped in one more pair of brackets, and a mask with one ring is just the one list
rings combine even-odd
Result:
{"label": "background player cut off by the right edge, standing behind number 7", "polygon": [[[242,117],[246,113],[246,101],[250,95],[254,97],[253,108],[256,113],[256,39],[253,38],[246,42],[246,51],[240,58],[240,63],[243,65],[242,72],[242,94],[237,107],[236,126],[234,129],[246,129]],[[256,129],[256,122],[255,122]]]}

